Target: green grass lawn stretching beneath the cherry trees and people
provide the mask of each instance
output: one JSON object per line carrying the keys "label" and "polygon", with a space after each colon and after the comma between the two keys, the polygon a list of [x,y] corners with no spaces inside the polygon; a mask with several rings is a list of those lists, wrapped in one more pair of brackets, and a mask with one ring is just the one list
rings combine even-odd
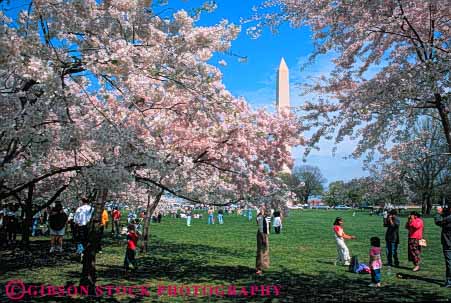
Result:
{"label": "green grass lawn stretching beneath the cherry trees and people", "polygon": [[[125,245],[105,237],[103,254],[98,255],[98,285],[148,285],[150,297],[127,295],[102,297],[104,301],[120,302],[323,302],[323,301],[448,301],[451,289],[440,287],[444,281],[444,260],[440,244],[440,229],[432,218],[425,218],[425,238],[421,270],[412,272],[407,261],[407,234],[401,228],[399,248],[401,268],[382,269],[382,287],[369,288],[370,275],[347,272],[335,266],[335,240],[332,223],[336,216],[345,220],[345,231],[357,236],[348,241],[351,255],[360,262],[368,262],[369,239],[384,239],[382,217],[366,212],[335,210],[292,211],[284,222],[280,235],[270,235],[271,267],[263,276],[255,272],[256,224],[237,215],[226,215],[224,225],[207,225],[204,219],[193,219],[187,227],[185,220],[163,218],[161,224],[152,223],[151,247],[147,255],[138,255],[140,267],[130,277],[122,270]],[[254,214],[255,218],[255,214]],[[401,225],[406,218],[401,218]],[[109,230],[109,229],[108,229]],[[2,252],[1,302],[5,302],[5,285],[11,279],[24,283],[68,285],[77,283],[81,264],[70,254],[72,246],[66,242],[62,255],[48,254],[45,238],[35,238],[31,255],[20,251]],[[383,262],[385,263],[385,255]],[[403,275],[399,278],[399,274]],[[279,285],[281,293],[271,297],[168,296],[157,294],[158,285],[229,286],[238,290],[252,285]],[[193,288],[191,288],[193,290]],[[249,293],[250,295],[250,293]],[[68,298],[32,298],[35,302],[68,301]],[[86,302],[87,298],[71,301]]]}

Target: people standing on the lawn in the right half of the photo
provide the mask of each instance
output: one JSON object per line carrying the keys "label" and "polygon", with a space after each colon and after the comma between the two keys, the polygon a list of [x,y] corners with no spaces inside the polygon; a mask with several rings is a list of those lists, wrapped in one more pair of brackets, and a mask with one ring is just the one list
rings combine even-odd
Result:
{"label": "people standing on the lawn in the right half of the photo", "polygon": [[[280,212],[267,210],[262,206],[257,213],[257,253],[256,253],[256,274],[261,275],[264,269],[269,268],[269,234],[271,230],[271,218],[275,233],[280,232],[281,220]],[[434,218],[435,224],[441,227],[441,243],[443,255],[445,258],[445,284],[444,287],[451,288],[451,207],[439,207]],[[390,210],[384,215],[383,226],[386,227],[385,232],[385,248],[388,267],[399,267],[398,246],[400,243],[399,228],[401,221],[395,209]],[[422,247],[426,246],[426,240],[423,238],[424,221],[421,215],[412,211],[407,218],[404,226],[407,229],[407,256],[408,261],[412,262],[412,271],[420,270]],[[333,223],[333,232],[337,247],[337,259],[335,265],[342,264],[344,266],[351,265],[351,255],[345,243],[345,240],[354,240],[356,236],[349,235],[344,231],[344,219],[337,217]],[[381,239],[371,237],[369,239],[369,270],[371,273],[370,287],[381,286],[381,269],[382,269],[382,249]]]}

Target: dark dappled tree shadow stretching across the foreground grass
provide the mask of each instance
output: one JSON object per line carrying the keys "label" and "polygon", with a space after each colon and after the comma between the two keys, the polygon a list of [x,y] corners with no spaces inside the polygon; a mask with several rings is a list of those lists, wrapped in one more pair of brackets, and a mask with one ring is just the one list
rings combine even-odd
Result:
{"label": "dark dappled tree shadow stretching across the foreground grass", "polygon": [[[237,289],[245,287],[248,291],[252,285],[278,285],[281,287],[279,296],[274,291],[271,297],[256,296],[250,298],[244,295],[236,297],[216,296],[176,296],[163,294],[159,298],[157,285],[150,285],[150,297],[98,297],[98,298],[67,298],[67,297],[34,297],[32,302],[155,302],[159,299],[170,302],[380,302],[380,301],[446,301],[447,298],[434,293],[433,290],[423,291],[399,285],[383,285],[378,289],[369,288],[369,276],[359,280],[349,277],[345,272],[337,274],[329,271],[319,271],[318,274],[303,274],[288,268],[277,271],[269,270],[262,276],[254,274],[253,263],[249,266],[233,266],[214,264],[211,258],[243,258],[249,260],[246,251],[233,251],[206,245],[176,244],[154,239],[151,253],[139,256],[139,269],[127,280],[127,286],[149,285],[149,281],[161,281],[161,285],[203,285],[218,286],[235,285]],[[244,259],[245,260],[245,259]],[[252,259],[253,262],[254,259]],[[213,263],[213,264],[212,264]],[[329,264],[329,262],[327,262]],[[97,265],[99,284],[108,281],[112,285],[120,285],[124,281],[122,264]],[[405,275],[407,279],[438,283],[435,279],[420,276]],[[70,272],[68,282],[78,281],[79,272]],[[70,281],[69,281],[70,280]],[[35,282],[39,285],[39,282]],[[0,301],[6,302],[5,285],[0,285]]]}

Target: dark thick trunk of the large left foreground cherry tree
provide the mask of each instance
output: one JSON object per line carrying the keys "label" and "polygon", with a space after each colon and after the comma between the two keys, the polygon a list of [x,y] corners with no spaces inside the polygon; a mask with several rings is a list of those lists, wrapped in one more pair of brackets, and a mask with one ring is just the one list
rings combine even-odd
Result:
{"label": "dark thick trunk of the large left foreground cherry tree", "polygon": [[81,272],[80,285],[86,286],[89,294],[95,295],[96,275],[96,254],[99,247],[102,212],[108,194],[107,189],[100,190],[94,204],[94,212],[88,224],[88,239],[83,252],[83,269]]}

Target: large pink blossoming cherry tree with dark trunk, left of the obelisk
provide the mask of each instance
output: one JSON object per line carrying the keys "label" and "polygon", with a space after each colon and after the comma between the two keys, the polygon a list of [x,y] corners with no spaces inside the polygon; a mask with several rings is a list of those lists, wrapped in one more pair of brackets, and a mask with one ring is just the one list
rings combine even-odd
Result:
{"label": "large pink blossoming cherry tree with dark trunk, left of the obelisk", "polygon": [[82,284],[94,290],[105,202],[130,188],[142,198],[137,183],[221,205],[277,190],[302,128],[233,97],[208,63],[237,26],[157,15],[144,0],[28,4],[0,13],[0,198],[52,178],[90,195]]}

